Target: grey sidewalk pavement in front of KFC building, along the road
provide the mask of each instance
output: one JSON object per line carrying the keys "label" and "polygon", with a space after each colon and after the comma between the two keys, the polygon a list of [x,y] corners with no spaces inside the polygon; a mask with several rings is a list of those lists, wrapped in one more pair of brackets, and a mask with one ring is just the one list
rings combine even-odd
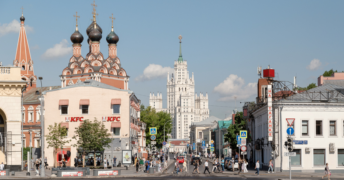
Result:
{"label": "grey sidewalk pavement in front of KFC building, along the road", "polygon": [[[167,162],[167,165],[170,166],[171,164],[173,164],[174,160],[171,159],[170,162]],[[51,166],[48,166],[48,169],[45,169],[45,176],[46,178],[63,178],[65,179],[65,177],[51,177],[52,173],[51,173]],[[106,177],[142,177],[142,176],[157,176],[160,175],[161,172],[156,171],[154,174],[149,174],[149,173],[145,173],[143,171],[138,171],[138,173],[136,173],[136,167],[131,165],[130,167],[128,167],[128,170],[126,170],[126,167],[114,167],[113,169],[120,169],[121,170],[121,176],[106,176]],[[107,170],[111,170],[111,169],[107,169]],[[22,172],[15,172],[14,176],[4,176],[1,177],[1,179],[24,179],[24,178],[41,178],[40,176],[35,176],[36,175],[36,171],[35,170],[31,170],[31,177],[30,176],[26,176],[26,171],[22,171]],[[56,173],[56,171],[55,171]],[[82,177],[82,178],[95,178],[95,177],[99,177],[99,176],[93,176],[93,169],[90,169],[90,175],[86,175],[86,177]],[[105,176],[101,176],[101,177],[105,177]],[[80,177],[79,177],[80,178]]]}

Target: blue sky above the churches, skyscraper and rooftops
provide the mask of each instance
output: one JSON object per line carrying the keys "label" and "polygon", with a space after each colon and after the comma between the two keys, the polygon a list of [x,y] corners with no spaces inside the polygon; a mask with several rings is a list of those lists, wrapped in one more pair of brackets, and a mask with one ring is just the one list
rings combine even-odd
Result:
{"label": "blue sky above the churches, skyscraper and rooftops", "polygon": [[[69,38],[75,31],[76,11],[84,36],[83,57],[88,52],[92,2],[1,1],[2,64],[13,63],[23,6],[35,75],[43,77],[43,86],[61,85],[59,75],[72,56]],[[166,99],[164,74],[178,59],[179,35],[190,75],[194,72],[195,91],[208,92],[211,115],[221,119],[235,107],[233,96],[238,97],[238,107],[243,106],[240,101],[255,100],[258,65],[266,69],[270,64],[281,81],[292,82],[297,74],[301,87],[316,83],[325,70],[344,70],[343,1],[98,0],[96,4],[97,23],[103,29],[101,52],[107,57],[105,37],[113,13],[118,57],[130,76],[129,88],[145,105],[150,92],[162,92]],[[54,47],[60,53],[46,53]],[[151,72],[151,67],[158,68]]]}

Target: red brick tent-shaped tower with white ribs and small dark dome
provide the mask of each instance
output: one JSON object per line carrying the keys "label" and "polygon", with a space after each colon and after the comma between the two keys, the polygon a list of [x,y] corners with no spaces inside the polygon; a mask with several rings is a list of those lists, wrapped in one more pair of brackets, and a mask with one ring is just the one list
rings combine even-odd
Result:
{"label": "red brick tent-shaped tower with white ribs and small dark dome", "polygon": [[31,60],[28,38],[25,32],[24,26],[25,17],[20,17],[20,32],[17,45],[17,52],[15,53],[15,59],[13,60],[14,67],[21,67],[22,80],[29,82],[29,87],[26,92],[31,88],[36,87],[37,76],[33,72],[33,61]]}

